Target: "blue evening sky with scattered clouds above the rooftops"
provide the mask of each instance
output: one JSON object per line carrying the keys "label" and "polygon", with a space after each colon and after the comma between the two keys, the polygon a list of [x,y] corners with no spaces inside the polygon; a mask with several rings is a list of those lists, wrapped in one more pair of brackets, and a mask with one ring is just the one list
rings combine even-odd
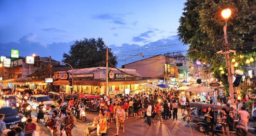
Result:
{"label": "blue evening sky with scattered clouds above the rooftops", "polygon": [[[0,55],[10,55],[9,50],[13,48],[19,49],[21,56],[35,53],[62,60],[63,52],[68,52],[74,40],[102,37],[122,60],[125,56],[120,54],[123,51],[177,43],[174,35],[184,2],[1,0]],[[158,48],[143,54],[155,55],[186,48]],[[130,52],[131,55],[136,53]],[[122,63],[120,61],[119,66]]]}

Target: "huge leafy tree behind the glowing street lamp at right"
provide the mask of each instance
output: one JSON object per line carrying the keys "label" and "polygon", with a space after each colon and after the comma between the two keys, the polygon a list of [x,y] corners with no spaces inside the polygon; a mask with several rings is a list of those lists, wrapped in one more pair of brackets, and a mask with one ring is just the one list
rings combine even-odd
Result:
{"label": "huge leafy tree behind the glowing street lamp at right", "polygon": [[[226,61],[217,51],[223,50],[225,20],[221,10],[231,9],[231,17],[227,21],[227,36],[229,49],[237,53],[230,53],[230,58],[236,58],[238,69],[244,69],[245,59],[254,57],[256,40],[256,1],[255,0],[187,0],[184,12],[179,20],[179,39],[189,44],[187,55],[192,60],[206,62],[207,68],[214,72],[214,77],[228,85],[227,75],[220,75],[219,67],[227,73]],[[240,58],[239,55],[244,58]]]}

